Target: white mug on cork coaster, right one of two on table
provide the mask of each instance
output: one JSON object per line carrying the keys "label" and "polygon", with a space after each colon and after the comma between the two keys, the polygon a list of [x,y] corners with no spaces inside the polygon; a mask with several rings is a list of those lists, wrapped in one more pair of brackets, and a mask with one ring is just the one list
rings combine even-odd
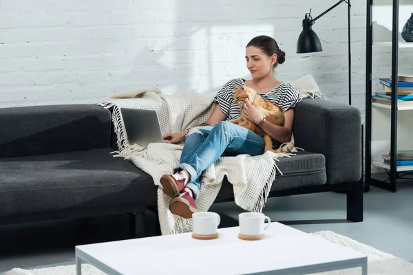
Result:
{"label": "white mug on cork coaster, right one of two on table", "polygon": [[[271,219],[258,212],[241,213],[238,215],[238,220],[240,222],[240,233],[245,236],[262,235],[264,230],[271,225]],[[266,225],[265,220],[268,221]]]}

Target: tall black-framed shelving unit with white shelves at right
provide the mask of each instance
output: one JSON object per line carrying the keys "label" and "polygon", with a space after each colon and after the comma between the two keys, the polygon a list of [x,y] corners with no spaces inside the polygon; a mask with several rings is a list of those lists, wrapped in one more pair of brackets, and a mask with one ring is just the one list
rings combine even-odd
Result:
{"label": "tall black-framed shelving unit with white shelves at right", "polygon": [[[366,36],[366,183],[396,192],[399,172],[413,170],[413,166],[396,166],[396,151],[399,143],[401,150],[413,149],[413,145],[402,137],[413,136],[413,105],[397,104],[397,76],[399,71],[399,48],[413,47],[413,43],[399,41],[399,0],[392,0],[392,41],[372,41],[373,0],[367,0]],[[390,105],[372,102],[372,46],[392,48],[392,102]],[[390,124],[390,133],[385,125]],[[398,128],[399,127],[399,128]],[[399,137],[399,138],[398,138]],[[390,143],[390,148],[389,148]],[[390,150],[390,165],[383,163],[381,155]],[[371,166],[389,170],[388,180],[372,177]]]}

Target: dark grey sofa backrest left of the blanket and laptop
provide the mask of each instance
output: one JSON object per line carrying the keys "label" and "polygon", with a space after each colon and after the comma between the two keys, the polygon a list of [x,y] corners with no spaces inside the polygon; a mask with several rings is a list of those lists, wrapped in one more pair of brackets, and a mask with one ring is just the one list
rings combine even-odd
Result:
{"label": "dark grey sofa backrest left of the blanket and laptop", "polygon": [[111,146],[112,115],[95,104],[0,109],[0,157]]}

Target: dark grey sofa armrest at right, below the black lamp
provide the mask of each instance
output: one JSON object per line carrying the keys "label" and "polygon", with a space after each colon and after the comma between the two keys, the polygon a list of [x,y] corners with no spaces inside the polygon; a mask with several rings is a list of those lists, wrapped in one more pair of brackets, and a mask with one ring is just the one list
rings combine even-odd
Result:
{"label": "dark grey sofa armrest at right, below the black lamp", "polygon": [[304,98],[295,107],[295,146],[326,157],[327,183],[361,179],[361,113],[348,104]]}

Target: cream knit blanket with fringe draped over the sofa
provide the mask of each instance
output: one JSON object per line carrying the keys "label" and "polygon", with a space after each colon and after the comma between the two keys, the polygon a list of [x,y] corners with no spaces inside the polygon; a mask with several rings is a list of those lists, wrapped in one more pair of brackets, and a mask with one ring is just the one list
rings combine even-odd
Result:
{"label": "cream knit blanket with fringe draped over the sofa", "polygon": [[[299,80],[292,83],[297,85],[301,96],[323,98],[314,81],[310,84],[308,80],[303,81],[303,79],[300,79],[301,83]],[[146,149],[136,144],[130,145],[120,108],[156,110],[164,134],[184,131],[188,126],[207,121],[215,107],[214,96],[198,94],[195,91],[169,96],[162,94],[157,88],[119,92],[110,96],[107,102],[99,104],[105,108],[114,107],[113,121],[120,148],[115,152],[117,153],[115,156],[129,159],[138,168],[151,175],[156,186],[160,186],[160,177],[172,173],[173,168],[179,164],[183,144],[151,143]],[[266,152],[255,157],[249,155],[220,157],[202,173],[200,195],[196,200],[198,210],[209,210],[226,176],[233,185],[235,203],[246,211],[261,212],[275,180],[276,169],[278,169],[277,157],[289,155],[291,154]],[[158,188],[158,215],[162,234],[191,232],[191,219],[183,219],[169,211],[170,198],[162,192],[161,188]]]}

